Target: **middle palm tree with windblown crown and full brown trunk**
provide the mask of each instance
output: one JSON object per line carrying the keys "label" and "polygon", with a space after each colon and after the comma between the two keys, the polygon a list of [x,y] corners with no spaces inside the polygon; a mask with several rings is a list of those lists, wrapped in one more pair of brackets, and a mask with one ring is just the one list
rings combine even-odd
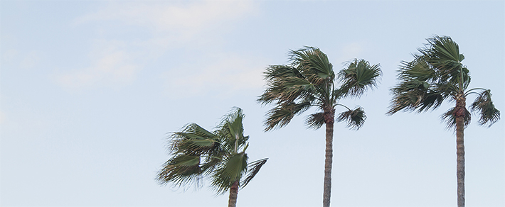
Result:
{"label": "middle palm tree with windblown crown and full brown trunk", "polygon": [[[287,125],[294,115],[312,106],[317,108],[317,113],[307,116],[306,123],[314,129],[326,125],[323,206],[329,206],[335,108],[344,106],[338,104],[339,99],[359,97],[366,89],[376,86],[381,69],[379,65],[370,65],[365,60],[353,60],[336,76],[328,57],[319,48],[291,50],[290,55],[290,65],[267,67],[267,89],[257,101],[275,105],[267,113],[265,131]],[[336,87],[335,79],[341,82],[341,86]],[[348,127],[360,128],[366,119],[363,108],[344,108],[346,111],[340,113],[336,121],[346,121]]]}

